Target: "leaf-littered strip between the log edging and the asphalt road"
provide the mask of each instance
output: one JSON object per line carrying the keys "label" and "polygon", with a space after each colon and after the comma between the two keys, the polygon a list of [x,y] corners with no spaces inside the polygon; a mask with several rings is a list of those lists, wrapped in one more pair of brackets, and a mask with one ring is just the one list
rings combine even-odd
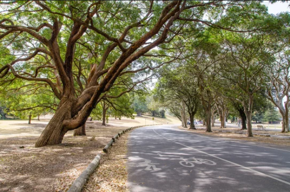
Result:
{"label": "leaf-littered strip between the log edging and the asphalt road", "polygon": [[126,188],[127,134],[113,143],[105,154],[99,167],[90,176],[82,192],[128,192]]}

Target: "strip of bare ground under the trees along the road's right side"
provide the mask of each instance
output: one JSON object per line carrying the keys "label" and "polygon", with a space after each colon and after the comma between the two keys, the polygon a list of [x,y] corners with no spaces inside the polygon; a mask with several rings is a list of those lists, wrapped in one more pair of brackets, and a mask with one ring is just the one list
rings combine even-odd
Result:
{"label": "strip of bare ground under the trees along the road's right side", "polygon": [[[201,127],[199,127],[201,128]],[[290,146],[290,139],[281,139],[277,137],[268,137],[268,136],[262,136],[262,135],[254,135],[253,137],[247,137],[246,134],[239,134],[234,132],[219,132],[218,130],[227,130],[227,131],[239,131],[246,133],[247,130],[240,130],[237,128],[218,128],[213,127],[213,132],[206,132],[204,129],[188,129],[188,128],[181,128],[183,130],[189,130],[192,132],[196,132],[199,134],[203,134],[206,136],[212,136],[212,137],[225,137],[230,139],[237,139],[237,140],[245,140],[245,141],[252,141],[252,142],[261,142],[261,143],[268,143],[268,144],[275,144],[275,145],[283,145],[283,146]],[[290,136],[290,133],[279,133],[277,131],[256,131],[253,130],[253,133],[262,133],[262,134],[276,134],[276,135],[282,135],[282,136]]]}

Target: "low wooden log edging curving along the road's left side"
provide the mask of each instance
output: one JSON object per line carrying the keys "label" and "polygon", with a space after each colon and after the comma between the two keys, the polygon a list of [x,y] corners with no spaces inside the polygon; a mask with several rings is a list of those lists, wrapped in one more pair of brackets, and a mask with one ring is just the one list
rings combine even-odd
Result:
{"label": "low wooden log edging curving along the road's left side", "polygon": [[[108,153],[109,147],[113,144],[113,142],[116,142],[116,140],[121,137],[125,132],[135,129],[135,128],[142,128],[142,127],[148,127],[148,126],[160,126],[162,124],[155,124],[155,125],[146,125],[146,126],[136,126],[132,128],[127,128],[118,134],[116,134],[112,139],[108,142],[108,144],[103,149],[103,152]],[[100,164],[100,160],[102,158],[102,154],[98,154],[91,163],[86,167],[86,169],[82,172],[82,174],[75,180],[73,185],[70,187],[70,189],[67,192],[81,192],[84,184],[88,180],[89,176],[94,172],[94,170],[97,168],[97,166]]]}

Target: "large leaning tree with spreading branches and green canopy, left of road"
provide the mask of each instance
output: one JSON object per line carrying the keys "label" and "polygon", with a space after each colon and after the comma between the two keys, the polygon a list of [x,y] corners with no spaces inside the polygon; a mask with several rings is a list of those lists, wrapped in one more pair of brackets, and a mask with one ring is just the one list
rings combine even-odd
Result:
{"label": "large leaning tree with spreading branches and green canopy, left of road", "polygon": [[[256,13],[256,5],[219,0],[1,1],[0,39],[15,60],[1,64],[0,78],[51,88],[59,104],[36,147],[59,144],[68,130],[83,126],[118,77],[157,67],[136,62],[138,58],[157,46],[166,48],[162,44],[188,29],[207,25],[229,30],[229,22],[225,27],[218,23],[226,10]],[[75,73],[80,70],[74,64],[78,53],[88,56],[79,63],[90,64],[87,73]],[[86,85],[78,93],[79,80]]]}

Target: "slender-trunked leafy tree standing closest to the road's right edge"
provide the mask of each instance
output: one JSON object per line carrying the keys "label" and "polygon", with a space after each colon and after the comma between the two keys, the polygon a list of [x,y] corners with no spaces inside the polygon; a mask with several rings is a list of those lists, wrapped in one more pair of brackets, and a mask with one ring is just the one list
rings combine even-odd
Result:
{"label": "slender-trunked leafy tree standing closest to the road's right edge", "polygon": [[227,33],[224,40],[224,55],[220,76],[234,83],[232,92],[241,102],[247,116],[248,136],[252,135],[251,116],[254,95],[264,86],[265,68],[270,66],[269,36],[249,33]]}

